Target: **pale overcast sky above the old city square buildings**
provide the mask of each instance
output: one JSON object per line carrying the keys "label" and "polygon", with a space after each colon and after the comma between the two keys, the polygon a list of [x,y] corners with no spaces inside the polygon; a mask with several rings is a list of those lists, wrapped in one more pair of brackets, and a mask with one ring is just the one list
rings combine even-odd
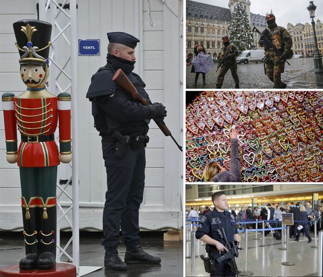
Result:
{"label": "pale overcast sky above the old city square buildings", "polygon": [[[229,0],[192,1],[229,8]],[[296,23],[305,24],[311,21],[309,12],[306,9],[309,5],[309,0],[250,0],[250,2],[250,12],[254,14],[265,15],[266,13],[270,13],[272,8],[273,14],[276,16],[277,24],[285,28],[288,22],[295,25]],[[313,3],[316,6],[314,20],[319,19],[323,21],[323,1],[314,0]]]}

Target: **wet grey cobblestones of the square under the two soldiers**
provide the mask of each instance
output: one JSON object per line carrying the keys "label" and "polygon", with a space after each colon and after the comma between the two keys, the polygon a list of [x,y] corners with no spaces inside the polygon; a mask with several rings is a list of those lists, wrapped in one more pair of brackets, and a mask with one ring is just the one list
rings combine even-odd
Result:
{"label": "wet grey cobblestones of the square under the two soldiers", "polygon": [[[323,73],[314,73],[312,58],[292,58],[285,63],[285,72],[282,81],[287,84],[287,89],[321,89],[323,88]],[[202,75],[198,77],[196,89],[215,89],[220,73],[216,73],[218,63],[215,63],[210,72],[206,74],[206,86],[203,86]],[[186,88],[193,89],[195,74],[191,73],[192,65],[186,66]],[[264,75],[263,63],[238,64],[240,89],[272,89],[274,84]],[[234,89],[230,70],[225,76],[222,88]]]}

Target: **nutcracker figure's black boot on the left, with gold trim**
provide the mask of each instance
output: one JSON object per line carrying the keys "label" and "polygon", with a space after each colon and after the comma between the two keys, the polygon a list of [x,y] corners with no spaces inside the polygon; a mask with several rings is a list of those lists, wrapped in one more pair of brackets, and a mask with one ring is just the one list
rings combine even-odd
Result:
{"label": "nutcracker figure's black boot on the left, with gold trim", "polygon": [[36,207],[23,207],[23,225],[24,225],[24,242],[26,249],[26,257],[19,262],[20,270],[32,270],[37,267],[38,259],[38,228],[36,226]]}

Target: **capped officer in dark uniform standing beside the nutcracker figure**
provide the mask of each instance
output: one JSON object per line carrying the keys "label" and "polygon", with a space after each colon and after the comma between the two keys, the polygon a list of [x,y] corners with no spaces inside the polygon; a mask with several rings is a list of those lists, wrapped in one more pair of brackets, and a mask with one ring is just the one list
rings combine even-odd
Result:
{"label": "capped officer in dark uniform standing beside the nutcracker figure", "polygon": [[[150,119],[163,120],[161,103],[142,105],[112,81],[121,68],[137,89],[149,100],[145,83],[133,73],[135,47],[139,39],[123,32],[107,33],[106,65],[92,76],[86,97],[92,102],[96,129],[102,137],[102,152],[107,175],[107,191],[103,210],[104,267],[126,270],[130,263],[160,263],[143,251],[139,238],[139,206],[145,181],[145,146],[148,143]],[[125,262],[118,254],[121,227],[126,249]],[[127,263],[127,264],[126,264]]]}

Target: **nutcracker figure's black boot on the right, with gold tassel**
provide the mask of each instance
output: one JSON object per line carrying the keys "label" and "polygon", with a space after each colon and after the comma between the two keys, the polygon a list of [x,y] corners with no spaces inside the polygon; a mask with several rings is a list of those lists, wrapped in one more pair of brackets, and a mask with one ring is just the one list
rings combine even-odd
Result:
{"label": "nutcracker figure's black boot on the right, with gold tassel", "polygon": [[56,265],[56,204],[38,209],[41,225],[37,268],[47,270]]}

